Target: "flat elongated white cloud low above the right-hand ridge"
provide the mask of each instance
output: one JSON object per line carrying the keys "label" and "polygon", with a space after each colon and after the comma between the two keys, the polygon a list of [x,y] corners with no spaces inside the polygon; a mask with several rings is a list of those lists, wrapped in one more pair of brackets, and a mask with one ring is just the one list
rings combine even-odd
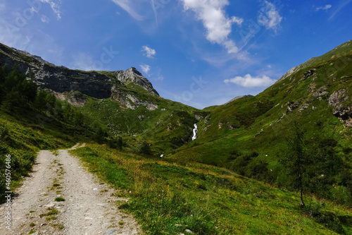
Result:
{"label": "flat elongated white cloud low above the right-hand ridge", "polygon": [[254,87],[266,87],[275,83],[274,79],[269,78],[268,76],[252,77],[250,74],[247,74],[244,77],[237,76],[231,79],[224,80],[224,83],[234,83],[240,85],[244,88],[254,88]]}

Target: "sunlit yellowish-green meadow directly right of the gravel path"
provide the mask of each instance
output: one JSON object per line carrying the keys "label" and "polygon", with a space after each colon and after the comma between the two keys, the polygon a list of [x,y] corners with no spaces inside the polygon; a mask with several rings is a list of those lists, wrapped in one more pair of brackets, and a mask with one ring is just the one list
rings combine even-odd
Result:
{"label": "sunlit yellowish-green meadow directly right of the gravel path", "polygon": [[[272,188],[205,164],[177,164],[115,152],[73,150],[91,171],[129,197],[120,205],[146,234],[351,234],[351,210]],[[348,215],[349,214],[349,215]]]}

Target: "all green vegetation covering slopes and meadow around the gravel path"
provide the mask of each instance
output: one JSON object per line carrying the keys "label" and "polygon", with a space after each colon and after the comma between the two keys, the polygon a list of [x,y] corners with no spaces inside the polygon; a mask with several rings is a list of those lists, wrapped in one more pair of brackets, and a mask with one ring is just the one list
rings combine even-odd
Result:
{"label": "all green vegetation covering slopes and meadow around the gravel path", "polygon": [[[37,63],[4,48],[22,66]],[[131,198],[120,207],[151,234],[352,233],[352,42],[293,68],[256,97],[203,110],[159,97],[143,79],[122,84],[118,71],[73,78],[102,76],[103,85],[109,78],[111,97],[71,90],[59,94],[62,101],[37,90],[33,73],[13,64],[0,70],[0,164],[11,155],[11,188],[39,149],[94,141],[75,153]],[[1,178],[0,193],[5,187]]]}

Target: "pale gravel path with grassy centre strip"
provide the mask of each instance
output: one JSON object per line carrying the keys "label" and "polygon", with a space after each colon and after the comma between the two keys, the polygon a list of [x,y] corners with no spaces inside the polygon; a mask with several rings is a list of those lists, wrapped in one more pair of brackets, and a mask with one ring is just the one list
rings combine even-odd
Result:
{"label": "pale gravel path with grassy centre strip", "polygon": [[1,205],[1,235],[141,233],[133,217],[117,208],[127,199],[113,196],[115,191],[99,183],[68,150],[40,151],[30,177],[16,193],[11,230],[4,224],[6,210]]}

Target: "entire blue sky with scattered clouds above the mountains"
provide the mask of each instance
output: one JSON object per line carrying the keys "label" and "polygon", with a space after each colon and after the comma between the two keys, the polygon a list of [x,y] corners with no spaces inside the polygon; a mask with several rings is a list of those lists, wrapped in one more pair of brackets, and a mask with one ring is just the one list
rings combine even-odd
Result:
{"label": "entire blue sky with scattered clouds above the mountains", "polygon": [[203,108],[256,95],[352,39],[352,0],[1,0],[0,42],[58,66],[132,66]]}

